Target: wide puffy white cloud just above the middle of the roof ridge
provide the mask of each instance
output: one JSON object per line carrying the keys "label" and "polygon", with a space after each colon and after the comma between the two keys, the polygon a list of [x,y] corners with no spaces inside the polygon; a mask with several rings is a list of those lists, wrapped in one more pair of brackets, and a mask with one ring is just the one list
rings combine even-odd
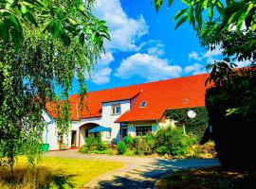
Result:
{"label": "wide puffy white cloud just above the middle of the roof ridge", "polygon": [[122,60],[115,76],[121,78],[139,76],[148,80],[159,80],[180,77],[181,73],[182,68],[178,65],[170,65],[168,60],[137,53]]}

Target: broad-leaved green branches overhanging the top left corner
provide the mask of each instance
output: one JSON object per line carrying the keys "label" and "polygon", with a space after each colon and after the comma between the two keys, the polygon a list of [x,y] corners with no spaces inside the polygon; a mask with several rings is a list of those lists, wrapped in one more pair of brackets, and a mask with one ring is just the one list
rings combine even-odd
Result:
{"label": "broad-leaved green branches overhanging the top left corner", "polygon": [[[88,32],[96,32],[91,30],[92,25],[104,24],[90,12],[94,2],[95,0],[0,0],[1,43],[14,43],[18,50],[24,41],[25,26],[33,25],[43,33],[49,32],[53,39],[59,39],[64,45],[69,45],[71,38],[75,36],[80,36],[80,43],[83,44]],[[100,33],[101,28],[97,29]],[[101,35],[109,39],[106,33]]]}

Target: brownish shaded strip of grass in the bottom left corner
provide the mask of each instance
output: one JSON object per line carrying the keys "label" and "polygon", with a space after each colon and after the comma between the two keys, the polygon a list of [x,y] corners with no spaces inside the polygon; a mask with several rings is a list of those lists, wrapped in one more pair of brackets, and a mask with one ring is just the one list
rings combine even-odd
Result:
{"label": "brownish shaded strip of grass in the bottom left corner", "polygon": [[14,168],[0,167],[0,188],[74,188],[72,178],[75,175],[65,175],[45,167]]}

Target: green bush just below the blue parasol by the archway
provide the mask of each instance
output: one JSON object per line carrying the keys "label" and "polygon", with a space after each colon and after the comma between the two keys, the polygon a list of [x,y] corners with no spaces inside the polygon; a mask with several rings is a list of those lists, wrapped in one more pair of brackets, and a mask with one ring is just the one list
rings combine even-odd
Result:
{"label": "green bush just below the blue parasol by the archway", "polygon": [[101,139],[101,136],[85,138],[85,144],[80,148],[80,152],[88,153],[94,150],[103,151],[107,148]]}

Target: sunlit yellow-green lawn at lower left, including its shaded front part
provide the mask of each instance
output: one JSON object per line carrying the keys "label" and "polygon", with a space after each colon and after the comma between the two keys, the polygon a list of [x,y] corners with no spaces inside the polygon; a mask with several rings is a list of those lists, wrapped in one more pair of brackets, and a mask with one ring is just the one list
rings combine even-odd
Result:
{"label": "sunlit yellow-green lawn at lower left, including its shaded front part", "polygon": [[35,169],[28,169],[26,158],[21,157],[13,173],[0,168],[0,188],[80,188],[89,180],[121,167],[122,163],[108,161],[43,158]]}

